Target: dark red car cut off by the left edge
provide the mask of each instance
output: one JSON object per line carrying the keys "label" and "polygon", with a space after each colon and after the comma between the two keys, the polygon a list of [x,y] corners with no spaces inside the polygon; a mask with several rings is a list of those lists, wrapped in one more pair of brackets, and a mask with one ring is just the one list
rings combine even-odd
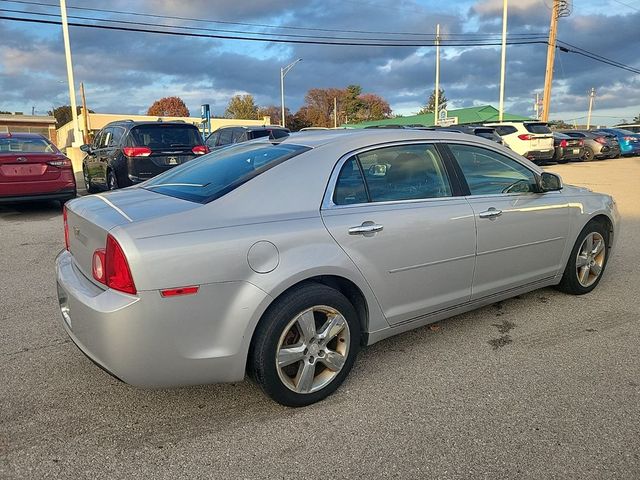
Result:
{"label": "dark red car cut off by the left edge", "polygon": [[0,133],[0,202],[76,196],[71,160],[42,135]]}

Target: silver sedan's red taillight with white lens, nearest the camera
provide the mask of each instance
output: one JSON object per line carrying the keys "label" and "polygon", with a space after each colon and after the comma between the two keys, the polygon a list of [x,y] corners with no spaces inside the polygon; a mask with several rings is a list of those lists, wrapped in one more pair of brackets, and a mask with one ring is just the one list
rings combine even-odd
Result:
{"label": "silver sedan's red taillight with white lens, nearest the camera", "polygon": [[99,248],[93,252],[93,278],[109,288],[124,293],[136,294],[131,269],[122,247],[111,235],[107,235],[106,248]]}

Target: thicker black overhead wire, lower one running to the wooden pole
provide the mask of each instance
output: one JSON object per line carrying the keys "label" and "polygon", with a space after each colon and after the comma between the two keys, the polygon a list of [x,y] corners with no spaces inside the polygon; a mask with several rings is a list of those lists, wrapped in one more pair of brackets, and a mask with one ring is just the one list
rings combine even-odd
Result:
{"label": "thicker black overhead wire, lower one running to the wooden pole", "polygon": [[[26,23],[38,23],[44,25],[61,25],[62,22],[56,20],[42,20],[35,18],[19,18],[19,17],[9,17],[9,16],[0,16],[0,20],[10,20],[15,22],[26,22]],[[421,43],[388,43],[387,42],[330,42],[326,40],[299,40],[299,39],[283,39],[283,38],[256,38],[256,37],[248,37],[248,36],[234,36],[234,35],[218,35],[218,34],[205,34],[205,33],[192,33],[192,32],[174,32],[170,30],[153,30],[150,28],[134,28],[134,27],[123,27],[116,25],[100,25],[100,24],[87,24],[87,23],[77,23],[77,22],[69,22],[70,26],[73,27],[84,27],[84,28],[97,28],[102,30],[117,30],[117,31],[125,31],[125,32],[141,32],[141,33],[155,33],[162,35],[173,35],[178,37],[194,37],[194,38],[215,38],[215,39],[223,39],[223,40],[246,40],[246,41],[254,41],[254,42],[267,42],[267,43],[291,43],[291,44],[308,44],[308,45],[336,45],[336,46],[354,46],[354,47],[430,47],[434,45],[434,42],[421,42]],[[161,25],[157,25],[162,27]],[[250,32],[248,32],[250,34]],[[393,40],[390,40],[393,41]],[[400,40],[404,41],[404,40]],[[408,40],[407,40],[408,41]],[[508,45],[531,45],[531,44],[544,44],[546,43],[544,40],[515,40],[508,41]],[[450,46],[457,47],[475,47],[475,46],[497,46],[500,43],[447,43]]]}

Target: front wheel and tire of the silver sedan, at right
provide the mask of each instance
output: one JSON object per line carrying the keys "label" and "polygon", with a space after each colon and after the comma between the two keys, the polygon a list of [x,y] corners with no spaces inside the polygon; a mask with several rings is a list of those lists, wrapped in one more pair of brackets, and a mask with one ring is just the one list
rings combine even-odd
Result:
{"label": "front wheel and tire of the silver sedan, at right", "polygon": [[578,235],[558,290],[584,295],[598,286],[609,260],[609,230],[598,221],[589,222]]}

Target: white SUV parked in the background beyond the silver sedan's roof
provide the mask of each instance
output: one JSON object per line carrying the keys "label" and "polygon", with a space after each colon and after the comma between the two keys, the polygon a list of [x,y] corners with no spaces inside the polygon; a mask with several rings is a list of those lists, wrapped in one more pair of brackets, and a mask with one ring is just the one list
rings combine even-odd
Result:
{"label": "white SUV parked in the background beyond the silver sedan's roof", "polygon": [[553,134],[546,123],[502,122],[485,125],[495,128],[513,151],[534,163],[545,163],[553,158]]}

